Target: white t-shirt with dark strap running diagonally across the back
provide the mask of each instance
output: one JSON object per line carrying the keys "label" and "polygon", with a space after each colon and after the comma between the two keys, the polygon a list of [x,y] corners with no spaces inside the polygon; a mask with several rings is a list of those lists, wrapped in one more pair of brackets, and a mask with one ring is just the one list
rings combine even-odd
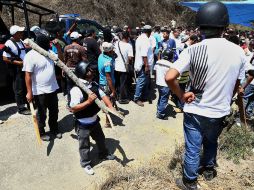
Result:
{"label": "white t-shirt with dark strap running diagonally across the back", "polygon": [[[123,58],[119,51],[118,43],[125,62],[123,61]],[[115,60],[115,70],[119,72],[126,72],[125,64],[128,63],[129,57],[133,57],[133,48],[131,44],[123,41],[116,42],[115,48],[115,52],[117,54],[117,58]]]}

